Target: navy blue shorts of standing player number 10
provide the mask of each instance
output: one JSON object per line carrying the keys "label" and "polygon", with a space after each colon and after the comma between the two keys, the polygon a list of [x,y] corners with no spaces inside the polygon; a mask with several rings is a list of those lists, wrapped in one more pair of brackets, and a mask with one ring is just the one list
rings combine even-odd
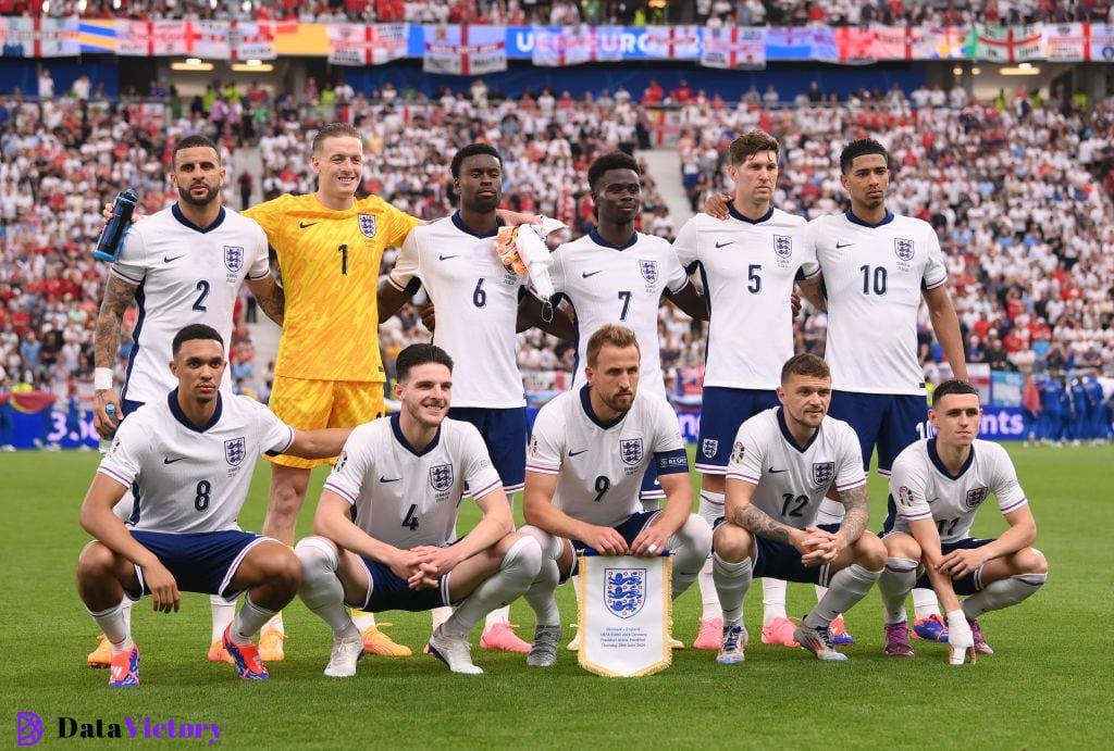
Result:
{"label": "navy blue shorts of standing player number 10", "polygon": [[928,402],[921,395],[833,391],[828,414],[850,424],[859,436],[863,472],[870,471],[870,455],[878,446],[878,473],[885,476],[898,454],[928,429]]}

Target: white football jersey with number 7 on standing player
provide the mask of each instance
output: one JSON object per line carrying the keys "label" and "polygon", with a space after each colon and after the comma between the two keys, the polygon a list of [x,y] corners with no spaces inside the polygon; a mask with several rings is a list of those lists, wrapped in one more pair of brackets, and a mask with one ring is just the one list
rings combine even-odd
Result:
{"label": "white football jersey with number 7 on standing player", "polygon": [[688,281],[673,248],[661,237],[635,233],[616,248],[596,230],[566,243],[553,254],[554,289],[576,308],[576,373],[573,388],[587,383],[588,339],[605,324],[631,328],[642,350],[639,388],[665,395],[657,345],[657,308],[666,290]]}

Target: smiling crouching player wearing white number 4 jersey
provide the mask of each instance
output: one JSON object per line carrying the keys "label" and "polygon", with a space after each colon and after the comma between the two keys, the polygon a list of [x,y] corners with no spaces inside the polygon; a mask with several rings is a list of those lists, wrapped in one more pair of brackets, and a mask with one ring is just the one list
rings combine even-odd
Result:
{"label": "smiling crouching player wearing white number 4 jersey", "polygon": [[[433,632],[430,653],[455,673],[479,674],[468,632],[530,587],[541,551],[512,532],[510,504],[479,431],[447,418],[449,355],[416,344],[399,354],[395,368],[402,411],[352,432],[322,490],[317,534],[294,549],[300,595],[333,630],[325,675],[354,675],[363,655],[345,604],[373,613],[456,605]],[[466,486],[483,518],[452,543]]]}

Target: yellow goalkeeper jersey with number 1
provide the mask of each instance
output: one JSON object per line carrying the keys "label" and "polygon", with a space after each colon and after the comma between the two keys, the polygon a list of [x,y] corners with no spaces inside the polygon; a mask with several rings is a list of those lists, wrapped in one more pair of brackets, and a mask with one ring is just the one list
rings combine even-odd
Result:
{"label": "yellow goalkeeper jersey with number 1", "polygon": [[278,254],[286,313],[275,375],[383,382],[375,302],[383,250],[421,220],[382,198],[334,211],[313,194],[280,196],[244,211]]}

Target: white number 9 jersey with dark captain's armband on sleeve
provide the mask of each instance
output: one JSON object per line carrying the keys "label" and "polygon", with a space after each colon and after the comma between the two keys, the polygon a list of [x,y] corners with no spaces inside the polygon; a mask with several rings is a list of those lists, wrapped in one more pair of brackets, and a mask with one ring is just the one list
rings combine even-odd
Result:
{"label": "white number 9 jersey with dark captain's armband on sleeve", "polygon": [[659,475],[688,472],[677,416],[665,397],[638,389],[625,415],[603,423],[584,386],[538,412],[526,470],[558,475],[554,505],[573,518],[615,526],[642,511],[638,493],[651,462]]}

